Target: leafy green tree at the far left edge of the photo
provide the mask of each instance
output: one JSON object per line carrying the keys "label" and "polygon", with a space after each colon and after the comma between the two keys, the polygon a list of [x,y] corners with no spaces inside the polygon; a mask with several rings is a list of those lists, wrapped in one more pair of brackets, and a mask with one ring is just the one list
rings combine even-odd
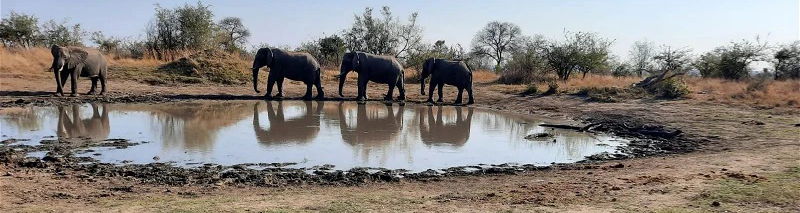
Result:
{"label": "leafy green tree at the far left edge of the photo", "polygon": [[9,47],[35,46],[39,38],[39,19],[33,15],[25,15],[11,11],[8,17],[0,22],[0,40]]}

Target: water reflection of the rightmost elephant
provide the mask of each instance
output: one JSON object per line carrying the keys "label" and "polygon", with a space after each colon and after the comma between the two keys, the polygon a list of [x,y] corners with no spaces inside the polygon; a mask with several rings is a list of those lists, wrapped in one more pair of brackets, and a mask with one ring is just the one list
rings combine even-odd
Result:
{"label": "water reflection of the rightmost elephant", "polygon": [[434,146],[463,146],[469,139],[469,130],[472,124],[472,108],[470,107],[467,109],[467,116],[465,118],[461,112],[462,107],[455,107],[455,123],[445,123],[443,111],[444,108],[438,106],[435,118],[433,115],[433,107],[429,106],[427,112],[423,110],[419,111],[419,134],[422,142],[426,145]]}

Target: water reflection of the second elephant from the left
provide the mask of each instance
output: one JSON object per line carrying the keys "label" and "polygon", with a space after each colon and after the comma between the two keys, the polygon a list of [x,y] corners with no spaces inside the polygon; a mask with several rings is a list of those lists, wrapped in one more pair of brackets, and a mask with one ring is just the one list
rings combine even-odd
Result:
{"label": "water reflection of the second elephant from the left", "polygon": [[261,119],[258,117],[258,106],[261,105],[261,102],[253,106],[253,129],[258,142],[265,145],[300,144],[310,142],[317,137],[320,128],[320,112],[322,112],[325,102],[317,102],[317,106],[312,108],[311,101],[304,101],[305,114],[291,119],[284,117],[283,102],[277,102],[277,110],[274,109],[272,103],[272,101],[266,101],[269,129],[261,127]]}

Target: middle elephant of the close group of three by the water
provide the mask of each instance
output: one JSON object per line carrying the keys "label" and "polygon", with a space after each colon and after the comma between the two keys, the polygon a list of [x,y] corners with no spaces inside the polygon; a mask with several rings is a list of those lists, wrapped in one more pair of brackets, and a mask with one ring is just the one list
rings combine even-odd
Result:
{"label": "middle elephant of the close group of three by the water", "polygon": [[403,66],[397,59],[391,56],[373,55],[363,52],[349,52],[342,57],[341,71],[339,73],[339,96],[342,94],[344,81],[347,73],[355,71],[358,73],[358,96],[356,100],[365,101],[367,99],[367,83],[387,84],[389,91],[384,100],[391,101],[394,88],[397,87],[400,96],[398,100],[405,100],[405,86],[403,84]]}

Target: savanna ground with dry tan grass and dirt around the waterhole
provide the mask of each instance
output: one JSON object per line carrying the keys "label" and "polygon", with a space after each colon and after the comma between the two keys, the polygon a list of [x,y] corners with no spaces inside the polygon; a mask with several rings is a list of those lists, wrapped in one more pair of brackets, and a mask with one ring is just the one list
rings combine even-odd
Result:
{"label": "savanna ground with dry tan grass and dirt around the waterhole", "polygon": [[[0,54],[0,102],[94,98],[52,97],[55,85],[47,72],[47,50],[3,50]],[[155,71],[165,63],[161,61],[111,63],[108,97],[256,95],[249,84],[145,80],[163,74]],[[323,77],[328,97],[338,97],[335,74],[326,71]],[[0,211],[800,211],[798,81],[755,85],[687,78],[692,91],[688,98],[621,97],[606,103],[572,94],[592,90],[587,88],[624,88],[639,79],[588,76],[561,82],[559,93],[540,97],[518,95],[525,85],[492,83],[496,78],[492,73],[475,76],[474,107],[571,119],[588,114],[626,115],[680,129],[702,143],[690,153],[587,163],[581,169],[357,186],[163,186],[124,178],[88,181],[74,174],[3,164]],[[345,90],[351,98],[356,93],[352,82]],[[88,91],[88,80],[79,84],[81,93]],[[538,86],[540,90],[547,87]],[[406,87],[409,101],[425,99],[419,95],[418,84]],[[455,89],[445,88],[445,101],[452,102]],[[304,89],[302,83],[286,81],[285,96],[299,97]],[[376,99],[385,87],[371,84],[369,92]]]}

